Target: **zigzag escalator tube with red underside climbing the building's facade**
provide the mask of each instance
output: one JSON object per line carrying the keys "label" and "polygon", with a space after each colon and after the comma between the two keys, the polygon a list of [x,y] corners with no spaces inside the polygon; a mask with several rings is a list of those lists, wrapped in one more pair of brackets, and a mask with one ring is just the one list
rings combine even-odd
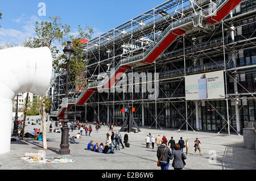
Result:
{"label": "zigzag escalator tube with red underside climbing the building's facade", "polygon": [[[206,17],[207,21],[212,24],[219,22],[240,2],[241,0],[217,1],[216,9],[212,10],[212,13]],[[97,87],[110,89],[110,87],[112,87],[127,70],[131,69],[129,64],[133,63],[134,61],[137,62],[137,64],[139,64],[139,62],[142,64],[152,64],[152,62],[154,62],[156,58],[158,58],[160,54],[163,53],[164,50],[166,50],[176,40],[177,37],[185,34],[183,27],[192,23],[192,16],[187,16],[183,19],[170,23],[166,30],[162,32],[158,39],[156,39],[156,41],[151,44],[144,53],[119,61],[112,73],[108,75],[108,78],[101,82],[90,83],[85,87],[84,91],[82,91],[79,98],[70,99],[68,102],[68,110],[72,106],[83,105],[90,98],[90,96],[97,91]],[[60,108],[60,110],[56,112],[56,116],[63,117],[64,108]]]}

